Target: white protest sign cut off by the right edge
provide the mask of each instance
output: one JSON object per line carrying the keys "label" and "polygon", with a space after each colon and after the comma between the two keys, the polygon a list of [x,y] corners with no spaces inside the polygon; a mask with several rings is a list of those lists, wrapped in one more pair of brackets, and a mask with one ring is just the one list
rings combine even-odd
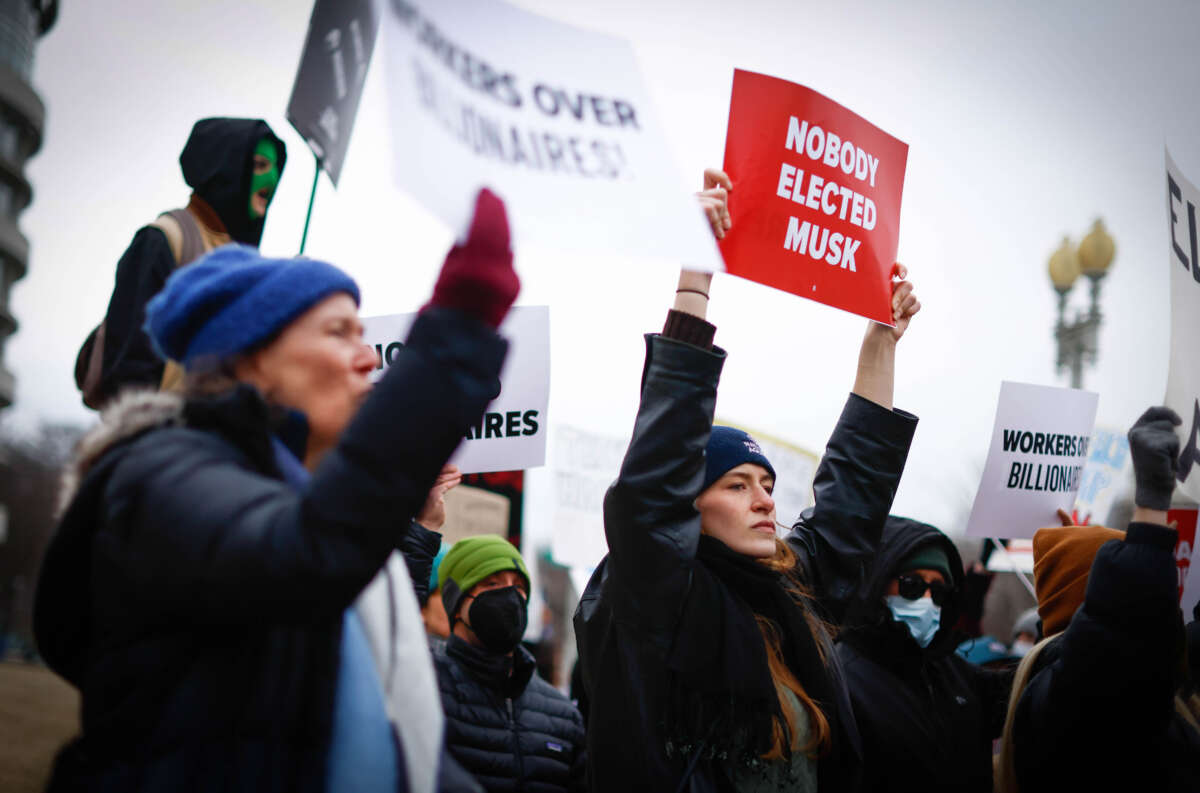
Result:
{"label": "white protest sign cut off by the right edge", "polygon": [[1166,154],[1166,234],[1171,268],[1171,362],[1166,373],[1165,404],[1183,425],[1178,489],[1200,500],[1200,245],[1196,212],[1200,191],[1183,178]]}

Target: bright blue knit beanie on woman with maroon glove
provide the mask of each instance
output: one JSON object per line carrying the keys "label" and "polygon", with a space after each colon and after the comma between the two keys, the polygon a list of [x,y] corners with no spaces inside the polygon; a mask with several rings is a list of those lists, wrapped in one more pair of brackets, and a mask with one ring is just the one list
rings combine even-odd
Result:
{"label": "bright blue knit beanie on woman with maroon glove", "polygon": [[145,331],[163,358],[190,367],[253,349],[329,295],[359,302],[350,276],[316,259],[268,259],[224,245],[180,268],[146,304]]}

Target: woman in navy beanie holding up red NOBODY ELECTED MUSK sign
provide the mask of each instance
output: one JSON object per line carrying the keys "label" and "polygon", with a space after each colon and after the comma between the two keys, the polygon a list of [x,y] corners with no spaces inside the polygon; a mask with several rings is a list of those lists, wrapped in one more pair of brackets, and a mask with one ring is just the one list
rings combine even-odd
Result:
{"label": "woman in navy beanie holding up red NOBODY ELECTED MUSK sign", "polygon": [[[730,187],[706,173],[718,238]],[[704,320],[710,280],[682,272],[662,332],[647,336],[641,407],[605,498],[608,555],[575,615],[590,788],[853,791],[862,747],[828,625],[878,543],[916,428],[892,390],[920,304],[893,284],[895,328],[868,330],[816,504],[784,542],[770,461],[713,426],[725,353]]]}

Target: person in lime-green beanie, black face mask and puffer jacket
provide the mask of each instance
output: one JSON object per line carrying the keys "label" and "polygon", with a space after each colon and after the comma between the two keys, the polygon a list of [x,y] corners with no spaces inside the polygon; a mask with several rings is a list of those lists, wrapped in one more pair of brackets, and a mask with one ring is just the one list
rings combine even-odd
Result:
{"label": "person in lime-green beanie, black face mask and puffer jacket", "polygon": [[446,750],[490,793],[586,789],[583,717],[521,644],[529,570],[496,534],[456,542],[438,565],[450,637],[436,642]]}

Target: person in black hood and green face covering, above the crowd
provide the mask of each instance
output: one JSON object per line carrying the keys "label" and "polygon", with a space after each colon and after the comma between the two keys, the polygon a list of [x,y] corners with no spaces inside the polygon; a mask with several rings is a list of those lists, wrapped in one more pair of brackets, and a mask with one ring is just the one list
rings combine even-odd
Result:
{"label": "person in black hood and green face covering, above the crowd", "polygon": [[174,270],[204,253],[229,242],[258,247],[286,162],[287,148],[262,119],[196,122],[179,156],[192,188],[187,205],[133,235],[104,320],[79,353],[76,379],[89,407],[130,385],[179,385],[181,371],[156,354],[143,330],[145,306]]}

